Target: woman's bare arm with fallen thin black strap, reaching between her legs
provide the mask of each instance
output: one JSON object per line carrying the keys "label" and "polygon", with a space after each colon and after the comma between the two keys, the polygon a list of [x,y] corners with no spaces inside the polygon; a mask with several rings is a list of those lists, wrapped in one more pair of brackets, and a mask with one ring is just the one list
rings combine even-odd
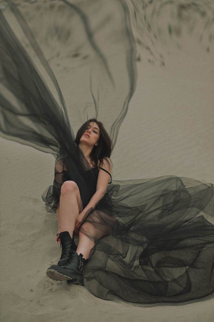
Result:
{"label": "woman's bare arm with fallen thin black strap, reaching between her legs", "polygon": [[[107,161],[108,160],[108,161]],[[110,159],[104,159],[103,163],[100,165],[103,169],[107,170],[109,173],[111,173],[111,161]],[[109,162],[109,163],[108,163]],[[102,199],[106,192],[106,188],[109,182],[110,175],[103,171],[102,169],[99,169],[98,179],[97,179],[97,187],[96,192],[92,196],[90,202],[87,204],[87,206],[82,210],[81,213],[79,213],[78,219],[75,223],[75,230],[78,230],[82,219],[84,218],[85,214],[96,207],[96,204]],[[91,211],[90,211],[91,212]]]}

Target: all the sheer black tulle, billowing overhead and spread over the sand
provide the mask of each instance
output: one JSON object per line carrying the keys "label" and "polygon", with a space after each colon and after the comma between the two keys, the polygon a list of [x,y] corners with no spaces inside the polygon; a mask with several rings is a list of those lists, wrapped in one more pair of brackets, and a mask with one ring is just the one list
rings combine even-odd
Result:
{"label": "all the sheer black tulle, billowing overhead and spread over the sand", "polygon": [[[97,117],[115,145],[135,89],[133,4],[0,2],[1,136],[53,154],[70,177],[78,174],[82,194],[95,177],[74,143],[74,132]],[[56,208],[52,195],[59,193],[60,173],[56,191],[51,187],[43,195],[48,211]],[[212,184],[176,176],[113,181],[86,219],[105,237],[82,230],[96,242],[84,270],[86,288],[99,298],[140,304],[211,294],[213,214]]]}

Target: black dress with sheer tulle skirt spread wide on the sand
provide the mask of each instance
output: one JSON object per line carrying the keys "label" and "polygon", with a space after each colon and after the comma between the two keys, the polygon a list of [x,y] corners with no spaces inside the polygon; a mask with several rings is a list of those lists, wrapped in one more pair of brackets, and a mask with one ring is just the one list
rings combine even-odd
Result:
{"label": "black dress with sheer tulle skirt spread wide on the sand", "polygon": [[[56,171],[54,185],[43,194],[48,211],[55,209],[64,180],[77,183],[83,207],[95,192],[98,168],[83,170],[84,164],[80,174],[72,161],[67,159],[72,166],[60,181]],[[80,228],[95,241],[84,269],[86,288],[103,299],[134,303],[182,302],[212,293],[212,207],[213,186],[193,179],[113,181]]]}

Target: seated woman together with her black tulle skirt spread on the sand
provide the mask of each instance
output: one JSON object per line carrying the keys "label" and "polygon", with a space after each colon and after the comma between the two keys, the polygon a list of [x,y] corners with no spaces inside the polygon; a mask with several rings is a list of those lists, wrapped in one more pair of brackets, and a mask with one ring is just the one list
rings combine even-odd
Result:
{"label": "seated woman together with her black tulle skirt spread on the sand", "polygon": [[83,285],[90,259],[84,282],[101,298],[153,303],[209,294],[213,186],[175,176],[108,185],[111,145],[102,123],[85,122],[75,143],[73,153],[57,158],[53,189],[43,195],[49,210],[56,204],[62,244],[47,275]]}

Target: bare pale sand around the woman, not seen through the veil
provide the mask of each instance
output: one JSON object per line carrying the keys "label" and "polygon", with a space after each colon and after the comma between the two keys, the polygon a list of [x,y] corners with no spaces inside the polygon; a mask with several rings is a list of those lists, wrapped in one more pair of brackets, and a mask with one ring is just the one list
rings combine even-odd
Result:
{"label": "bare pale sand around the woman, not seen through the veil", "polygon": [[[166,51],[164,67],[141,52],[136,90],[112,155],[113,179],[178,175],[214,183],[213,51],[194,37],[182,44],[180,51]],[[53,182],[54,157],[5,139],[0,144],[1,321],[213,321],[212,298],[136,307],[46,277],[61,253],[56,216],[41,200]]]}

